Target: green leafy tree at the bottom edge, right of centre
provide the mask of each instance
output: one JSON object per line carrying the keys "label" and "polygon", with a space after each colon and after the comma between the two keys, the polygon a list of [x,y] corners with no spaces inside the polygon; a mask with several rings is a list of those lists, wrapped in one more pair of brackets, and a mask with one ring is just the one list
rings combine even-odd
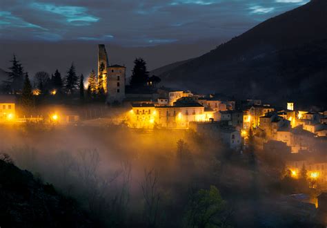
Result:
{"label": "green leafy tree at the bottom edge, right of centre", "polygon": [[211,186],[190,193],[185,216],[186,227],[226,227],[226,202],[219,190]]}

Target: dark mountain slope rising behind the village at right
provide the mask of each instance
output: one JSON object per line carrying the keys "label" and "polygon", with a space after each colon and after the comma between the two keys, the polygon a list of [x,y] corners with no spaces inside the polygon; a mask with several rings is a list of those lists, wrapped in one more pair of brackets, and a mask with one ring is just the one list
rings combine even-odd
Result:
{"label": "dark mountain slope rising behind the village at right", "polygon": [[[326,104],[327,1],[314,0],[260,23],[201,57],[161,68],[166,84],[196,91]],[[314,85],[319,85],[313,87]],[[314,88],[315,91],[312,91]],[[245,97],[244,97],[245,98]]]}

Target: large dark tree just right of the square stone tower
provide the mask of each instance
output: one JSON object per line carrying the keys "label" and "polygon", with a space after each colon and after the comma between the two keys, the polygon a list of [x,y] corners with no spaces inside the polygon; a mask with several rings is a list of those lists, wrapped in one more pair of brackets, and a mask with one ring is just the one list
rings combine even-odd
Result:
{"label": "large dark tree just right of the square stone tower", "polygon": [[146,61],[142,58],[136,58],[134,64],[135,66],[132,70],[130,86],[135,88],[145,86],[149,79],[149,73],[146,69]]}

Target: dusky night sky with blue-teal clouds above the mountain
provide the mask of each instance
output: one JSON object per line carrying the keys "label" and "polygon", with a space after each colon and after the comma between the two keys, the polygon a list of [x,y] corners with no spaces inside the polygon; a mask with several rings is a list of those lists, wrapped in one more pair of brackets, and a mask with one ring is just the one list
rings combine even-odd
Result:
{"label": "dusky night sky with blue-teal clouds above the mountain", "polygon": [[[0,44],[14,44],[1,45],[0,61],[8,61],[12,53],[16,53],[33,72],[37,66],[43,65],[35,66],[33,57],[28,55],[34,52],[43,55],[40,59],[43,59],[44,66],[50,66],[50,62],[44,57],[45,53],[31,51],[30,43],[49,44],[49,50],[53,49],[53,62],[56,57],[65,58],[59,56],[58,44],[73,42],[152,48],[143,48],[138,52],[131,49],[130,54],[124,49],[126,55],[112,53],[115,56],[112,58],[119,61],[117,64],[128,65],[135,55],[145,55],[150,58],[150,68],[156,68],[204,54],[257,23],[307,2],[308,0],[0,0]],[[186,44],[194,45],[194,48],[179,47]],[[174,57],[171,53],[165,53],[169,48],[156,53],[157,49],[153,47],[160,45],[175,46],[172,50],[177,48],[181,51]],[[19,49],[16,48],[18,46]],[[192,49],[192,52],[184,53],[184,49]],[[77,50],[79,56],[88,54],[79,53],[80,48]],[[82,72],[90,68],[86,68],[86,61],[72,57],[67,61],[77,61],[83,65],[85,69],[81,69]],[[6,68],[7,65],[1,64],[0,68]]]}

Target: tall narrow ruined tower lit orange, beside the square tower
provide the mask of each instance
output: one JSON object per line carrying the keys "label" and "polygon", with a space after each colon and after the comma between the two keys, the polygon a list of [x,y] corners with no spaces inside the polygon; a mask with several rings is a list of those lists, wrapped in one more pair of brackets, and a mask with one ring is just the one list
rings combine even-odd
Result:
{"label": "tall narrow ruined tower lit orange, beside the square tower", "polygon": [[99,44],[98,49],[98,82],[102,82],[103,89],[107,93],[107,68],[109,66],[108,55],[104,44]]}

